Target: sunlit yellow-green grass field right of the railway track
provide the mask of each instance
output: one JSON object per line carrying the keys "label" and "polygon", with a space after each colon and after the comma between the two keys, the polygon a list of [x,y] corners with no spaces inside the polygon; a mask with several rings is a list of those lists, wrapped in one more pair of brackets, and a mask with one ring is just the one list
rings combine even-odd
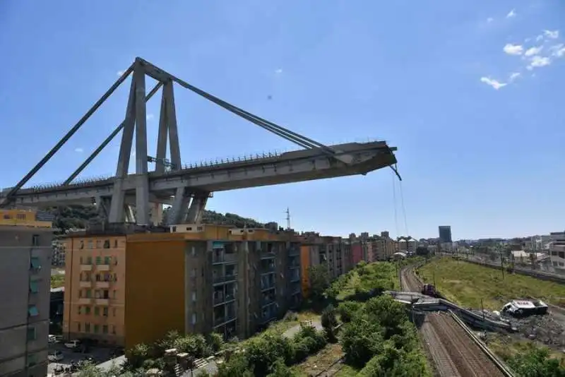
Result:
{"label": "sunlit yellow-green grass field right of the railway track", "polygon": [[565,285],[525,275],[502,273],[493,268],[439,258],[418,270],[424,282],[435,284],[439,292],[463,307],[500,310],[512,299],[528,296],[558,304],[565,297]]}

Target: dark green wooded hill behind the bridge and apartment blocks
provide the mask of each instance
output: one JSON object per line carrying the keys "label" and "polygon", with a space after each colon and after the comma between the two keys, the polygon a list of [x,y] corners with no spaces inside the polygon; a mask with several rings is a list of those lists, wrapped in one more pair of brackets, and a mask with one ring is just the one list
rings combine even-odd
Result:
{"label": "dark green wooded hill behind the bridge and apartment blocks", "polygon": [[[54,227],[61,229],[61,233],[68,229],[84,229],[89,222],[99,222],[94,205],[68,205],[54,208],[45,208],[45,211],[54,215]],[[163,217],[167,216],[167,209],[163,212]],[[233,225],[234,227],[262,228],[266,225],[249,217],[242,217],[235,213],[218,213],[205,210],[202,222],[205,224]]]}

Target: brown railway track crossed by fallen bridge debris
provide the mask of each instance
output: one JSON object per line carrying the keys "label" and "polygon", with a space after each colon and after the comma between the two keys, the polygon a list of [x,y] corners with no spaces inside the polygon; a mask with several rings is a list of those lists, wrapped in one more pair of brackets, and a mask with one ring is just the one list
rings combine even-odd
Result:
{"label": "brown railway track crossed by fallen bridge debris", "polygon": [[[400,270],[403,291],[420,292],[422,283],[413,268]],[[453,313],[429,313],[420,328],[424,346],[441,377],[511,377],[491,359],[474,337],[453,318]]]}

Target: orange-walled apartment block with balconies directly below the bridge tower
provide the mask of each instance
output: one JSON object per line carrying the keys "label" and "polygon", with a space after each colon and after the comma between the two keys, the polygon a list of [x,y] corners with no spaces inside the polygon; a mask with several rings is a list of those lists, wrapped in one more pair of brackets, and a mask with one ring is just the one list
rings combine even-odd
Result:
{"label": "orange-walled apartment block with balconies directly below the bridge tower", "polygon": [[73,276],[65,292],[66,337],[126,348],[168,330],[244,338],[302,300],[299,244],[290,233],[120,227],[88,229],[66,242]]}

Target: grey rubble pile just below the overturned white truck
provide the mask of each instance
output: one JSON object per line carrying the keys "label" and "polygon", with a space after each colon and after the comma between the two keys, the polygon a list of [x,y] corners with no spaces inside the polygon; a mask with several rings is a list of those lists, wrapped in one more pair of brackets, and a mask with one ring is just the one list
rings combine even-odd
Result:
{"label": "grey rubble pile just below the overturned white truck", "polygon": [[565,327],[552,316],[530,316],[514,320],[518,332],[530,340],[553,347],[565,346]]}

